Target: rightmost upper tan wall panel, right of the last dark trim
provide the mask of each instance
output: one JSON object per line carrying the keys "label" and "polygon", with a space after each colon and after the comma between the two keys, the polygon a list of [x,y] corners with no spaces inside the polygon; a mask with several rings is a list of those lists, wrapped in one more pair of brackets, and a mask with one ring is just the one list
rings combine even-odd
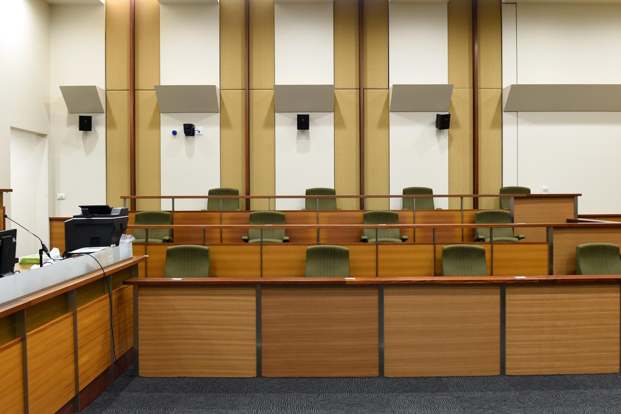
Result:
{"label": "rightmost upper tan wall panel, right of the last dark trim", "polygon": [[479,0],[478,5],[479,88],[502,89],[501,2]]}

